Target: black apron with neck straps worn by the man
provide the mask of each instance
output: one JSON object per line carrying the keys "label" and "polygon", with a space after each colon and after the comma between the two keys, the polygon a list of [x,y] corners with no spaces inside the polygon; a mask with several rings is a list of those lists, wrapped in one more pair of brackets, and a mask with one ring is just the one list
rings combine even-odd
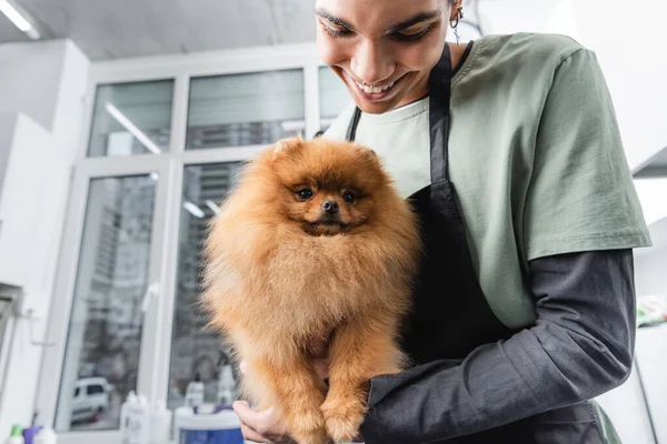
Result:
{"label": "black apron with neck straps worn by the man", "polygon": [[[418,285],[412,294],[412,311],[402,326],[402,349],[415,365],[451,360],[457,365],[476,347],[510,337],[508,329],[491,311],[470,260],[466,229],[449,181],[449,107],[451,95],[451,58],[446,47],[429,78],[430,169],[431,184],[409,201],[424,229],[425,260]],[[347,140],[354,141],[361,111],[357,108],[349,124]],[[428,365],[424,372],[429,371]],[[416,369],[415,369],[416,370]],[[396,384],[401,384],[400,376]],[[434,400],[416,398],[416,405]],[[436,401],[437,402],[437,401]],[[374,405],[369,405],[371,410]],[[382,417],[399,417],[401,405],[387,405]],[[387,412],[387,408],[390,410]],[[502,427],[442,443],[456,444],[603,444],[597,426],[591,428],[591,405],[584,403],[546,412]],[[364,432],[364,427],[361,428]],[[419,434],[415,424],[415,434]],[[385,444],[366,441],[367,444]],[[436,443],[429,441],[429,443]]]}

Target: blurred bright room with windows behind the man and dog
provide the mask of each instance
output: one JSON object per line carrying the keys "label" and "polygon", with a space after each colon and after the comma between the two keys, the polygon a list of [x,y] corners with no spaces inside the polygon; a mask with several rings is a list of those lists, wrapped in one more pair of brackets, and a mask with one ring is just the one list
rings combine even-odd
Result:
{"label": "blurred bright room with windows behind the man and dog", "polygon": [[[236,396],[195,302],[208,220],[240,165],[325,130],[349,97],[311,0],[0,0],[0,440],[119,443],[130,391]],[[667,444],[667,2],[465,2],[462,41],[556,32],[596,51],[655,245],[636,254],[636,367],[600,398]],[[451,36],[454,38],[454,36]]]}

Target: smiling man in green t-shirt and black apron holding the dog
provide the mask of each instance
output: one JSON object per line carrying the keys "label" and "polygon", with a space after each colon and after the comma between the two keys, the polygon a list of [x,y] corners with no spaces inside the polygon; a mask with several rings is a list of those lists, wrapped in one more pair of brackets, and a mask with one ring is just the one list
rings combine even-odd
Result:
{"label": "smiling man in green t-shirt and black apron holding the dog", "polygon": [[[370,381],[366,443],[618,442],[590,400],[630,371],[633,249],[650,239],[595,54],[548,34],[446,44],[460,0],[315,3],[354,101],[325,137],[377,152],[426,245],[415,366]],[[248,438],[289,436],[236,408]]]}

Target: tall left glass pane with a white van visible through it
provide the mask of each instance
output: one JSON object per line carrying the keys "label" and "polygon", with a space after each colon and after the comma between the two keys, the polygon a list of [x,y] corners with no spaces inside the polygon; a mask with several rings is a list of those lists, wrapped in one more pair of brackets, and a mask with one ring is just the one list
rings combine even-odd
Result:
{"label": "tall left glass pane with a white van visible through it", "polygon": [[137,389],[156,179],[90,182],[56,414],[59,432],[118,428],[120,404]]}

